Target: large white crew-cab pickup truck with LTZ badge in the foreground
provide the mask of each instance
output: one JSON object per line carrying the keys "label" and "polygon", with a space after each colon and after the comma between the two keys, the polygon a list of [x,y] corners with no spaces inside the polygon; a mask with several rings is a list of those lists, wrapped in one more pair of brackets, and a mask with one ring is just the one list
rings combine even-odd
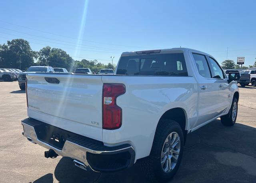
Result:
{"label": "large white crew-cab pickup truck with LTZ badge in the foreground", "polygon": [[239,73],[188,48],[124,52],[115,75],[28,73],[23,135],[76,166],[113,172],[141,160],[151,180],[176,173],[188,133],[236,122]]}

